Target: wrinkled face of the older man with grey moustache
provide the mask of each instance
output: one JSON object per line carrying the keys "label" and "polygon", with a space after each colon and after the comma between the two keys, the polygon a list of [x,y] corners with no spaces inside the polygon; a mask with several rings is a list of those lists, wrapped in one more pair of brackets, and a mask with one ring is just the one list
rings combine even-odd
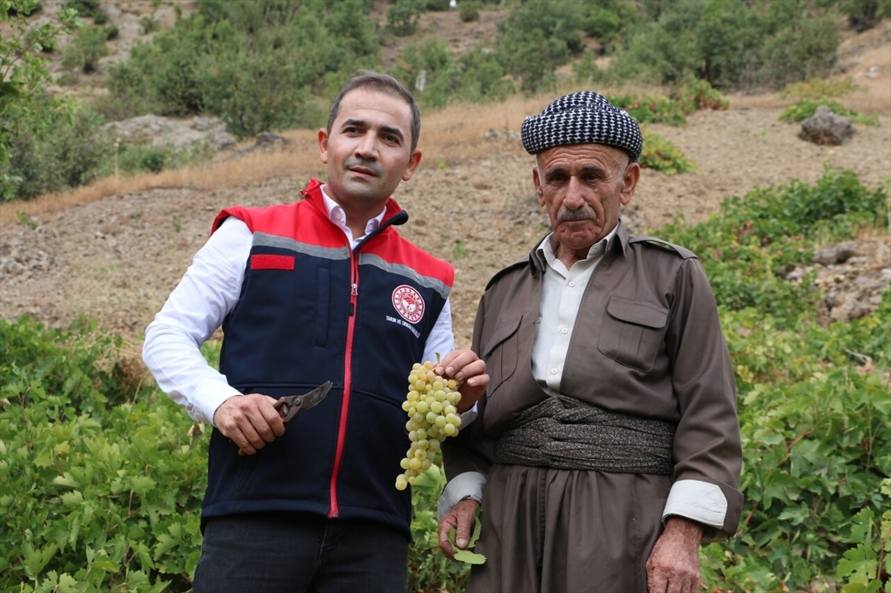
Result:
{"label": "wrinkled face of the older man with grey moustache", "polygon": [[602,144],[567,144],[536,158],[535,194],[551,218],[561,247],[590,248],[618,222],[641,175],[624,151]]}

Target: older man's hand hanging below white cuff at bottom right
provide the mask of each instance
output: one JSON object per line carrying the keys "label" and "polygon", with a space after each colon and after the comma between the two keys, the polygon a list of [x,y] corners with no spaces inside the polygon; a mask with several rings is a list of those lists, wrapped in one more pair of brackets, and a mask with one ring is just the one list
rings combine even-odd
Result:
{"label": "older man's hand hanging below white cuff at bottom right", "polygon": [[702,530],[701,524],[690,519],[668,518],[665,532],[656,540],[647,559],[650,593],[693,593],[699,589]]}

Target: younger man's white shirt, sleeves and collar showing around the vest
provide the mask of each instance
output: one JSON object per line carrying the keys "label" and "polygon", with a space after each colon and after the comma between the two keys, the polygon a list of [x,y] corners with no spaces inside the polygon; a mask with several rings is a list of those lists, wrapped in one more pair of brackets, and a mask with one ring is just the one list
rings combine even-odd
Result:
{"label": "younger man's white shirt, sleeves and collar showing around the vest", "polygon": [[[346,234],[354,248],[383,220],[384,210],[381,210],[380,215],[365,225],[365,235],[354,239],[343,208],[328,197],[324,185],[322,191],[331,221]],[[252,240],[247,224],[234,216],[227,218],[195,253],[183,280],[145,329],[143,360],[159,387],[183,406],[190,417],[205,424],[212,425],[219,405],[239,394],[225,375],[208,365],[200,345],[213,336],[238,303]],[[437,352],[452,350],[452,312],[446,299],[424,346],[424,361],[436,361]],[[405,372],[407,377],[408,370]]]}

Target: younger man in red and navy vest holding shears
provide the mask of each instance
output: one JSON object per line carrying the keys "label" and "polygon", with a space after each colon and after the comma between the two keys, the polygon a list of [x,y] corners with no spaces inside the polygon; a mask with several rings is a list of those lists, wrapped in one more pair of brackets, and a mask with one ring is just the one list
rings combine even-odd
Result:
{"label": "younger man in red and navy vest holding shears", "polygon": [[[406,589],[405,378],[440,352],[465,405],[487,379],[474,353],[453,352],[452,266],[396,232],[408,215],[390,195],[421,162],[420,129],[395,79],[351,80],[318,133],[327,183],[223,210],[146,329],[159,386],[215,426],[199,593]],[[219,326],[217,372],[199,346]],[[285,429],[274,402],[326,381]]]}

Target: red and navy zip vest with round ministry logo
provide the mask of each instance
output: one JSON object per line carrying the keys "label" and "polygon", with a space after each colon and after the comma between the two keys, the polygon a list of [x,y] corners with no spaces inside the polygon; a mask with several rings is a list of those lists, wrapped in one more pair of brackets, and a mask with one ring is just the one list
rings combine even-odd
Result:
{"label": "red and navy zip vest with round ministry logo", "polygon": [[202,521],[312,512],[366,518],[409,535],[411,500],[396,491],[407,376],[454,281],[451,264],[396,232],[408,215],[388,199],[380,227],[355,248],[332,223],[321,183],[292,204],[231,207],[253,233],[239,302],[223,322],[220,371],[242,394],[303,394],[332,381],[318,406],[257,454],[215,430]]}

